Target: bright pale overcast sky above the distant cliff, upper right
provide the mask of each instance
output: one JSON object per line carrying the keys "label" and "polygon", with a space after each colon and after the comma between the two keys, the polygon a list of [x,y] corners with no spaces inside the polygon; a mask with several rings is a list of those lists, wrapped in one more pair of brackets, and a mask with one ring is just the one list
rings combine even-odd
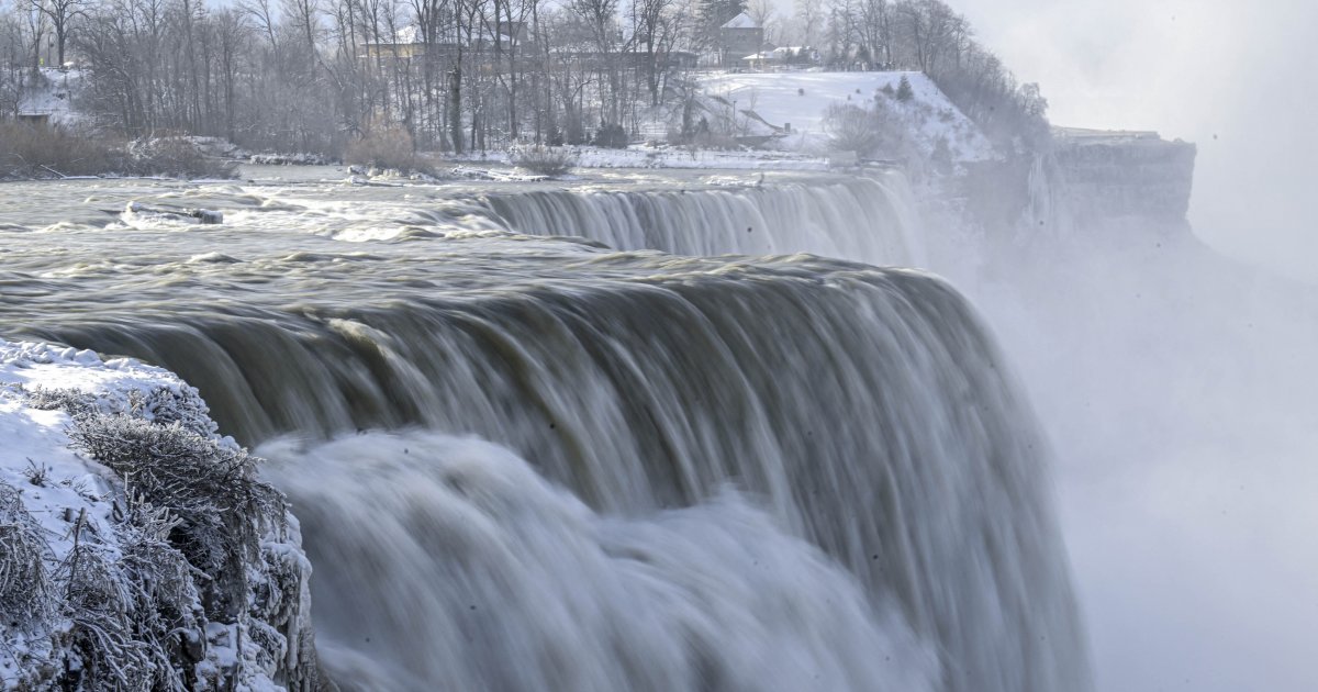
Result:
{"label": "bright pale overcast sky above the distant cliff, upper right", "polygon": [[1318,1],[953,0],[1054,124],[1199,145],[1210,244],[1318,283]]}

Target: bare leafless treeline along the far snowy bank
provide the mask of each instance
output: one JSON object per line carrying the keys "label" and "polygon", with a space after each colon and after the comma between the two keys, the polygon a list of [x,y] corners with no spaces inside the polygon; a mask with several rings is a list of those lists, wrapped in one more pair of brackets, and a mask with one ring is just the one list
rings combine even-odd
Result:
{"label": "bare leafless treeline along the far snowy bank", "polygon": [[[743,0],[12,0],[0,16],[0,113],[49,79],[127,137],[199,134],[340,153],[372,132],[418,149],[514,141],[617,145],[699,120],[692,72]],[[770,38],[812,40],[836,69],[932,75],[999,141],[1043,121],[969,24],[938,0],[801,0]],[[751,8],[772,25],[763,7]],[[801,22],[803,16],[816,17]],[[699,61],[699,66],[697,66]]]}

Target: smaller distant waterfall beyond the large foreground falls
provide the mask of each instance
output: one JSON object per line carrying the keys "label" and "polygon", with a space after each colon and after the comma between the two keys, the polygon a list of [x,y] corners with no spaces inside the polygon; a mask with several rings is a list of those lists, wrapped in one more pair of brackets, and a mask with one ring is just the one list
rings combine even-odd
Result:
{"label": "smaller distant waterfall beyond the large foreground falls", "polygon": [[509,229],[583,236],[619,250],[809,252],[875,265],[925,264],[915,204],[898,173],[725,190],[540,190],[489,195],[488,204]]}

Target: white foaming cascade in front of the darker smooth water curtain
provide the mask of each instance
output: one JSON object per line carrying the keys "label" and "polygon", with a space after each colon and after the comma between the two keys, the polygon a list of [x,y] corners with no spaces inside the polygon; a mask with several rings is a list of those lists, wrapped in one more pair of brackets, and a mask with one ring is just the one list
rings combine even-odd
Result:
{"label": "white foaming cascade in front of the darker smooth water curtain", "polygon": [[316,641],[340,688],[933,689],[900,616],[733,493],[605,517],[423,432],[262,453],[335,604]]}

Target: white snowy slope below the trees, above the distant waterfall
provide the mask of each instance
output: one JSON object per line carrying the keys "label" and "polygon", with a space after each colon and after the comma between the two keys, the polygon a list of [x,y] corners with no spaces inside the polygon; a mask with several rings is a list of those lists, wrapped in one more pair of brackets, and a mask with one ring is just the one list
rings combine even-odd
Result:
{"label": "white snowy slope below the trees, above the distant waterfall", "polygon": [[[900,103],[894,92],[902,78],[911,82],[913,96]],[[957,162],[994,158],[992,145],[938,87],[923,72],[746,72],[714,74],[701,79],[705,95],[728,108],[735,107],[738,123],[749,133],[770,134],[791,125],[779,140],[786,150],[821,150],[828,142],[824,120],[829,105],[850,103],[869,107],[888,99],[905,120],[907,129],[924,154],[945,140]]]}

